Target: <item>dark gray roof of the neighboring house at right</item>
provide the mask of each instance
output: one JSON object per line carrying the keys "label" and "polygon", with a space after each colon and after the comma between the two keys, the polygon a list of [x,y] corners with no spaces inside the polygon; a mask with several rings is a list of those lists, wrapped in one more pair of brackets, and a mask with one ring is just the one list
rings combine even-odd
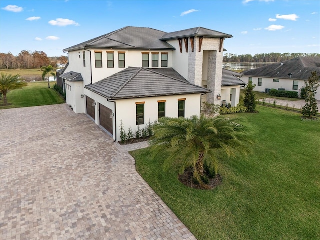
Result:
{"label": "dark gray roof of the neighboring house at right", "polygon": [[246,76],[307,80],[311,76],[312,71],[320,74],[320,57],[318,56],[297,57],[256,69],[246,70],[242,73]]}

